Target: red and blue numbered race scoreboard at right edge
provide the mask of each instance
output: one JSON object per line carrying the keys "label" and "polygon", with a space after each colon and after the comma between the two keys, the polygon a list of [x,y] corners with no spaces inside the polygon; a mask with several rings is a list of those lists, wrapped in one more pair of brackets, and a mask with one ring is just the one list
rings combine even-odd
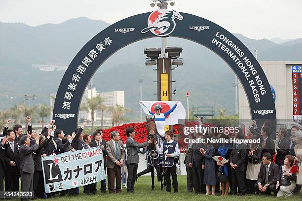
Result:
{"label": "red and blue numbered race scoreboard at right edge", "polygon": [[292,84],[293,84],[293,120],[301,121],[302,120],[302,66],[292,66]]}

